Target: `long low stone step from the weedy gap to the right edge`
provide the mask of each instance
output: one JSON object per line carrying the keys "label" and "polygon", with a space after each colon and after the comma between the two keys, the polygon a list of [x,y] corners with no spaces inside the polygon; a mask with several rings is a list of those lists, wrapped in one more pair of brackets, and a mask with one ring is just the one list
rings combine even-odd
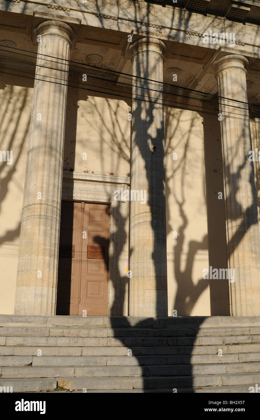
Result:
{"label": "long low stone step from the weedy gap to the right edge", "polygon": [[143,389],[186,388],[201,386],[248,385],[260,382],[260,373],[137,377],[137,378],[57,378],[58,386],[64,389]]}

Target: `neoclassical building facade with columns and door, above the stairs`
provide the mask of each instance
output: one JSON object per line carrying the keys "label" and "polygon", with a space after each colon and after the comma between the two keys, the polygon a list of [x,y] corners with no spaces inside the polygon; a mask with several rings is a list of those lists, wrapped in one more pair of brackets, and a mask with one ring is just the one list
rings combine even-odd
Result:
{"label": "neoclassical building facade with columns and door, above the stairs", "polygon": [[259,7],[0,16],[1,313],[260,315]]}

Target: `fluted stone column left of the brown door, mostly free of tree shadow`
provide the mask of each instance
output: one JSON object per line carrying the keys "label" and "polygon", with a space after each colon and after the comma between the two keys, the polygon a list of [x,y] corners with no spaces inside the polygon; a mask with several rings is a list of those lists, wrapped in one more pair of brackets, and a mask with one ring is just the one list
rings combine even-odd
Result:
{"label": "fluted stone column left of the brown door, mostly free of tree shadow", "polygon": [[[23,195],[15,314],[55,315],[67,60],[73,31],[61,21],[45,21],[36,27],[35,35],[38,36],[36,80]],[[51,58],[50,62],[48,55],[57,58]]]}

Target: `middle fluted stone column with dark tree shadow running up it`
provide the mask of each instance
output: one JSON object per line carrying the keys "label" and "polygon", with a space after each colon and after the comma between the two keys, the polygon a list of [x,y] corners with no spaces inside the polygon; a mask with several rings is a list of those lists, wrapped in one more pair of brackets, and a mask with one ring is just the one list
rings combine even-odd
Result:
{"label": "middle fluted stone column with dark tree shadow running up it", "polygon": [[139,39],[131,45],[131,53],[131,190],[140,191],[143,197],[147,194],[147,201],[131,200],[130,315],[167,316],[162,90],[165,44],[156,38]]}

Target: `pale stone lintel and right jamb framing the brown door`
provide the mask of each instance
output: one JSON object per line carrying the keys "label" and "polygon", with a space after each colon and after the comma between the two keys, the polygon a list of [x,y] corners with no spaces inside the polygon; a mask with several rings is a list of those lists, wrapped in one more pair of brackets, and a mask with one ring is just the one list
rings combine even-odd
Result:
{"label": "pale stone lintel and right jamb framing the brown door", "polygon": [[[116,189],[129,186],[128,176],[63,171],[62,200],[110,205],[107,315],[129,315],[129,278],[126,274],[126,259],[129,258],[129,202],[114,200]],[[113,244],[112,238],[117,231],[117,241]]]}

